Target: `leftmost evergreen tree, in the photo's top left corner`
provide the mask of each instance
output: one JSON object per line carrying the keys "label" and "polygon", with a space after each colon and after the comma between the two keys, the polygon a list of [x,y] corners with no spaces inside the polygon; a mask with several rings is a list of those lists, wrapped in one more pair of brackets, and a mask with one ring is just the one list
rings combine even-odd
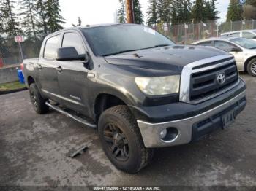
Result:
{"label": "leftmost evergreen tree, in the photo's top left corner", "polygon": [[21,33],[18,24],[18,17],[13,12],[14,9],[14,1],[12,0],[2,0],[0,4],[1,9],[1,20],[2,26],[4,26],[4,32],[9,36],[16,36],[17,34]]}

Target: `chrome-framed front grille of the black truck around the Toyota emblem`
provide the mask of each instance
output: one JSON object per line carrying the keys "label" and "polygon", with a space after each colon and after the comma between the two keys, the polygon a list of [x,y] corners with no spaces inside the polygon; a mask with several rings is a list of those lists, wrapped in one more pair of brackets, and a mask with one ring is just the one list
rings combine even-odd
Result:
{"label": "chrome-framed front grille of the black truck around the Toyota emblem", "polygon": [[[219,83],[219,74],[225,82]],[[184,66],[181,74],[180,101],[197,104],[225,93],[238,84],[236,61],[231,55],[219,55]]]}

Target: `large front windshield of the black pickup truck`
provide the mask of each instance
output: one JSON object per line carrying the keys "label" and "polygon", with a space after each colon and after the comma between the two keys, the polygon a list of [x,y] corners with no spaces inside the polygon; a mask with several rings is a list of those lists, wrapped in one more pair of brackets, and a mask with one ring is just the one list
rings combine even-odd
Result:
{"label": "large front windshield of the black pickup truck", "polygon": [[83,34],[94,54],[100,56],[175,44],[157,31],[139,25],[83,28]]}

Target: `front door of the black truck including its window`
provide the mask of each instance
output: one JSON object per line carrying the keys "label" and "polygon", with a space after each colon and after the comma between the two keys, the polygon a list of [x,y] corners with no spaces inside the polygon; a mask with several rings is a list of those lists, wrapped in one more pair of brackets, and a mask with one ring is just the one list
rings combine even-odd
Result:
{"label": "front door of the black truck including its window", "polygon": [[[76,31],[63,34],[61,47],[75,47],[79,55],[86,54],[83,39]],[[58,61],[58,82],[63,103],[70,109],[87,114],[87,93],[89,79],[85,61]]]}

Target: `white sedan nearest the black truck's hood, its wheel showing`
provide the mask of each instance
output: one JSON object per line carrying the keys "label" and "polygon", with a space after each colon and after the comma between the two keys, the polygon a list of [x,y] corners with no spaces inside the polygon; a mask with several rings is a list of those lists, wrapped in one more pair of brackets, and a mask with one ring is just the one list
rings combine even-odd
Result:
{"label": "white sedan nearest the black truck's hood, its wheel showing", "polygon": [[247,71],[256,76],[256,42],[251,39],[222,37],[204,39],[192,44],[217,47],[234,55],[238,71]]}

